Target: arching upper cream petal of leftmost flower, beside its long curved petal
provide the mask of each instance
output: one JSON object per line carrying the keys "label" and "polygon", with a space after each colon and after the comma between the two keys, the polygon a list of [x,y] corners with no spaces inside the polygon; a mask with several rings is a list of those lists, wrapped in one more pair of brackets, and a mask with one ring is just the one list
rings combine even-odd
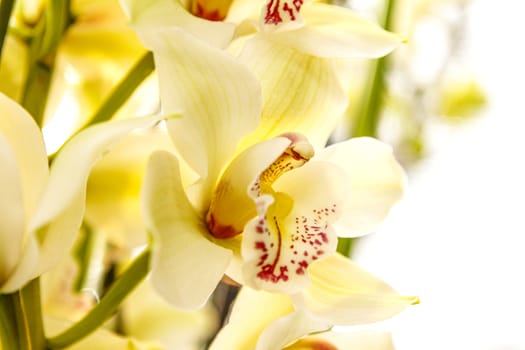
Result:
{"label": "arching upper cream petal of leftmost flower, beside its long curved petal", "polygon": [[30,218],[49,172],[44,140],[33,118],[2,93],[0,111],[0,133],[7,140],[16,159],[25,216]]}

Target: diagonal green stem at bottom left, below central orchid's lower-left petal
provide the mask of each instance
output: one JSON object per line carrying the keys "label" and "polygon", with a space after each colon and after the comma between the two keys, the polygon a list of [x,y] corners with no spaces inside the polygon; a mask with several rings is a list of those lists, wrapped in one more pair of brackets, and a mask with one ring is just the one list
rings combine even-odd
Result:
{"label": "diagonal green stem at bottom left, below central orchid's lower-left petal", "polygon": [[61,334],[49,338],[47,346],[61,349],[72,345],[99,328],[117,310],[128,294],[149,272],[149,250],[137,257],[129,268],[115,281],[106,295],[83,319]]}

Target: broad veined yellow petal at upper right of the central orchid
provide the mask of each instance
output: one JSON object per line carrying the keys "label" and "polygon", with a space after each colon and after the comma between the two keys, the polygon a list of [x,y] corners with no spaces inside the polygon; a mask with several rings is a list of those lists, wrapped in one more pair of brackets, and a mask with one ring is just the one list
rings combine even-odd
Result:
{"label": "broad veined yellow petal at upper right of the central orchid", "polygon": [[315,149],[324,147],[347,106],[333,62],[313,57],[257,35],[239,60],[261,80],[263,111],[259,128],[245,142],[295,131]]}

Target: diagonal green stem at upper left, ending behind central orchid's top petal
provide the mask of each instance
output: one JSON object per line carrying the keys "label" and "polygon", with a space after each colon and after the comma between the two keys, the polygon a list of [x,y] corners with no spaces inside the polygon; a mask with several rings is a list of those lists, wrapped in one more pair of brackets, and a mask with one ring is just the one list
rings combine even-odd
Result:
{"label": "diagonal green stem at upper left, ending behind central orchid's top petal", "polygon": [[120,80],[106,101],[90,118],[89,124],[92,125],[111,119],[154,69],[153,54],[148,51],[135,63],[128,74]]}

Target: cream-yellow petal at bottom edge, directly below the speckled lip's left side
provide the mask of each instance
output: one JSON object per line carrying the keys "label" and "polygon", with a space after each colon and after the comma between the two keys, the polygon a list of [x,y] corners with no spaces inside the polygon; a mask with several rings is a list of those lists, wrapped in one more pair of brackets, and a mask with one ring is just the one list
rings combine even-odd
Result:
{"label": "cream-yellow petal at bottom edge, directly below the speckled lip's left side", "polygon": [[292,312],[288,296],[244,287],[235,299],[228,324],[217,334],[210,350],[254,349],[269,324]]}

